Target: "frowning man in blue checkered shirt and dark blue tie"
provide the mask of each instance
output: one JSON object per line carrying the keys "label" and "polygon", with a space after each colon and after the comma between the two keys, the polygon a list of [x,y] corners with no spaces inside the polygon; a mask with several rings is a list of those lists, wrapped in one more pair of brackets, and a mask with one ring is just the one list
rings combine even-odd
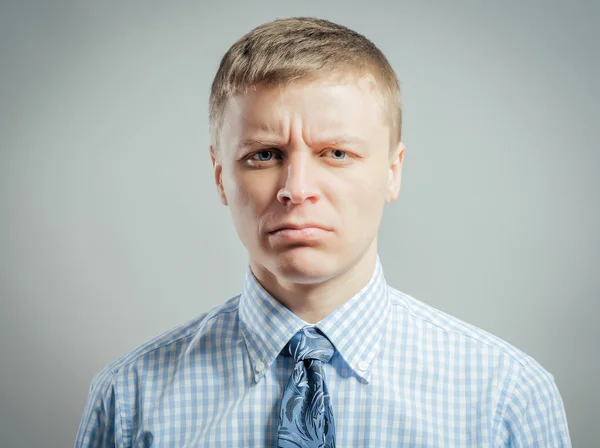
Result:
{"label": "frowning man in blue checkered shirt and dark blue tie", "polygon": [[369,40],[259,26],[223,57],[210,121],[243,291],[96,375],[77,447],[570,446],[535,360],[385,281],[377,231],[405,147]]}

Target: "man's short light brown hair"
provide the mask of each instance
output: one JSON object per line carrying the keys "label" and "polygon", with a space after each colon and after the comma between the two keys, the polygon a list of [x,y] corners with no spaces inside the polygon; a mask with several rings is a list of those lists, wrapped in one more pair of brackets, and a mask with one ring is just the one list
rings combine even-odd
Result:
{"label": "man's short light brown hair", "polygon": [[[402,137],[400,82],[381,50],[362,34],[324,19],[293,17],[251,30],[225,53],[210,92],[213,149],[230,98],[258,86],[281,86],[330,74],[372,76],[390,128],[390,145]],[[390,148],[391,149],[391,148]]]}

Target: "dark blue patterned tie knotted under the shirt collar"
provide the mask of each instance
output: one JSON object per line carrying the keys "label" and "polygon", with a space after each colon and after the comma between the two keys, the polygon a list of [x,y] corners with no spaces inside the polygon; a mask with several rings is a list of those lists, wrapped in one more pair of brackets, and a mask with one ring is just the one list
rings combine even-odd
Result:
{"label": "dark blue patterned tie knotted under the shirt collar", "polygon": [[295,365],[283,391],[278,448],[335,447],[335,422],[323,369],[334,352],[329,339],[315,327],[302,328],[283,349]]}

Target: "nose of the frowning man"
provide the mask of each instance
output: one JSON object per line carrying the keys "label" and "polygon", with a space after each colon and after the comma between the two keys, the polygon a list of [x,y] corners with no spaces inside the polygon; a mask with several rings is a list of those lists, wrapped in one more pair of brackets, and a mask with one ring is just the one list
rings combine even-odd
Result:
{"label": "nose of the frowning man", "polygon": [[301,204],[304,201],[316,202],[319,199],[317,189],[316,163],[313,154],[292,152],[288,157],[285,185],[277,193],[277,199],[284,205]]}

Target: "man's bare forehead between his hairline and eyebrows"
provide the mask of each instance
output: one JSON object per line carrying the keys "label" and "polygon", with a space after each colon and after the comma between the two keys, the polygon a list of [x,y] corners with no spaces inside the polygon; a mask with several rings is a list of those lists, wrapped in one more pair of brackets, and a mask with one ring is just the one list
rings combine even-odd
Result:
{"label": "man's bare forehead between his hairline and eyebrows", "polygon": [[277,86],[253,86],[230,98],[224,109],[225,134],[381,132],[381,95],[370,76],[332,75]]}

